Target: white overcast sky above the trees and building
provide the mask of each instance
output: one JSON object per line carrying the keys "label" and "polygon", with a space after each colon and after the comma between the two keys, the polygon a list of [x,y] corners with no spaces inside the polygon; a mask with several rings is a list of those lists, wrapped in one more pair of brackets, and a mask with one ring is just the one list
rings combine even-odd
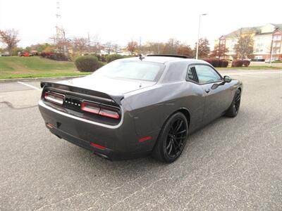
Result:
{"label": "white overcast sky above the trees and building", "polygon": [[[66,37],[98,34],[101,41],[126,45],[131,39],[166,41],[173,37],[187,44],[200,37],[214,39],[240,27],[282,23],[282,1],[188,0],[59,0]],[[20,46],[50,41],[56,34],[56,0],[0,0],[0,29],[20,32]]]}

